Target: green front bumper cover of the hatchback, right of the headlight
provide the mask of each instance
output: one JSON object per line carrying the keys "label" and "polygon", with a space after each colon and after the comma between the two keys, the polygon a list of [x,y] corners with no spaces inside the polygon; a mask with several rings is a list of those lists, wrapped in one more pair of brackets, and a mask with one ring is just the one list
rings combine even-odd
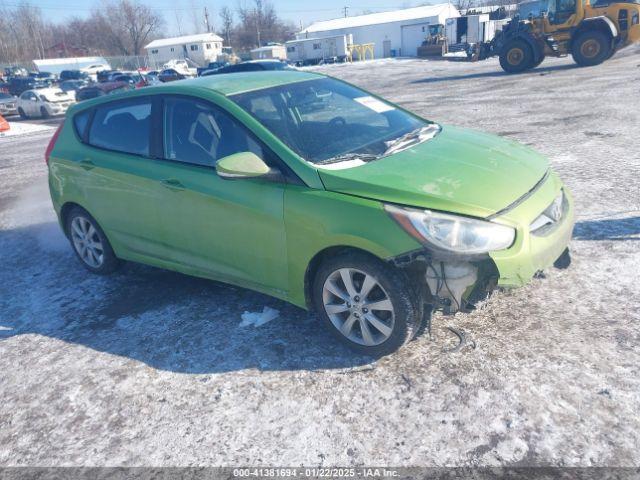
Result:
{"label": "green front bumper cover of the hatchback, right of the headlight", "polygon": [[[515,223],[516,241],[507,250],[489,254],[498,269],[498,286],[520,287],[527,284],[537,272],[551,267],[567,249],[574,225],[573,199],[557,177],[545,185],[545,189],[553,188],[556,192],[564,193],[562,214],[553,228],[547,229],[544,234],[529,231],[534,220],[528,214],[532,210],[529,202],[504,217],[506,222]],[[542,211],[542,208],[538,211]]]}

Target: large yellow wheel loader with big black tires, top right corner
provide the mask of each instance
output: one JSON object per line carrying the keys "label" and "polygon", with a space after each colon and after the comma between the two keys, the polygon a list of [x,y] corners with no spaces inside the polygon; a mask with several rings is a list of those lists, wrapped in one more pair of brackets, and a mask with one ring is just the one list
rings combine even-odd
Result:
{"label": "large yellow wheel loader with big black tires, top right corner", "polygon": [[[519,73],[537,67],[547,55],[571,54],[578,65],[598,65],[620,48],[640,41],[640,3],[591,1],[520,4],[519,15],[491,42],[491,54],[499,55],[505,72]],[[534,6],[528,13],[527,5]]]}

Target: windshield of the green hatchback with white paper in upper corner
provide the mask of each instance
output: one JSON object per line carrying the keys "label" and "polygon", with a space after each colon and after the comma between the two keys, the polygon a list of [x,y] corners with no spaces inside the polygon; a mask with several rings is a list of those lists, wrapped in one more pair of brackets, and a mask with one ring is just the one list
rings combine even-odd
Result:
{"label": "windshield of the green hatchback with white paper in upper corner", "polygon": [[424,129],[439,131],[435,124],[331,78],[231,98],[294,152],[317,165],[375,160],[399,151],[397,141],[408,147],[427,139]]}

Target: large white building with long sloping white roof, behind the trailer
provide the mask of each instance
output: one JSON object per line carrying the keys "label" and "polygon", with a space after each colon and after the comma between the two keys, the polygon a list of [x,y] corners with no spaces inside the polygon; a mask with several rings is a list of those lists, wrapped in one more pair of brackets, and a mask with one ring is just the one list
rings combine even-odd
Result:
{"label": "large white building with long sloping white roof, behind the trailer", "polygon": [[296,38],[324,38],[353,35],[353,43],[373,43],[376,58],[417,55],[429,33],[429,25],[444,25],[447,18],[459,17],[449,3],[405,8],[390,12],[358,15],[316,22],[296,34]]}

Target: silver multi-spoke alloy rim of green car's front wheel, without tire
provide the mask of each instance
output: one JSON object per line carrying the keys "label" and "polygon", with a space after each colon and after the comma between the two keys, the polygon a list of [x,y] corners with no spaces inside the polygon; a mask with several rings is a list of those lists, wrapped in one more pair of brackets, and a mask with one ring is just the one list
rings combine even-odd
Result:
{"label": "silver multi-spoke alloy rim of green car's front wheel, without tire", "polygon": [[327,277],[322,302],[331,323],[354,343],[374,346],[387,340],[395,324],[389,295],[371,274],[340,268]]}

